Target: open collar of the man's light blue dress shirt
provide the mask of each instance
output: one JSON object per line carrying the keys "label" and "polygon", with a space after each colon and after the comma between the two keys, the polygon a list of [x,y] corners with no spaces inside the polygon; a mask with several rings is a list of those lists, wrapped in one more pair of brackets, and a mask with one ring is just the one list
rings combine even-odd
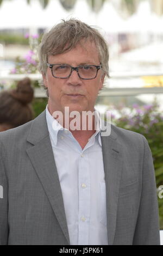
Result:
{"label": "open collar of the man's light blue dress shirt", "polygon": [[[102,146],[101,136],[100,136],[100,133],[101,133],[100,131],[102,129],[101,117],[97,109],[94,109],[94,112],[95,112],[95,127],[97,130],[92,136],[95,138],[95,136],[98,135],[96,137],[98,138],[99,144]],[[46,121],[47,121],[49,134],[53,139],[53,143],[57,145],[58,132],[63,130],[66,131],[67,129],[62,127],[62,125],[60,125],[58,121],[52,117],[51,113],[48,110],[48,105],[46,106]]]}

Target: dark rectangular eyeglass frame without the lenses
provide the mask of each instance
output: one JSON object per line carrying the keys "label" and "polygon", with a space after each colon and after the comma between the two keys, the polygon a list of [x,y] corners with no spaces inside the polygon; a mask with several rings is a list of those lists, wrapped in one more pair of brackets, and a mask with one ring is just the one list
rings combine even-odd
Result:
{"label": "dark rectangular eyeglass frame without the lenses", "polygon": [[[52,69],[53,69],[53,66],[55,66],[55,65],[67,65],[67,66],[70,66],[70,67],[71,67],[70,75],[68,75],[67,77],[58,77],[58,76],[54,76]],[[52,76],[55,77],[55,78],[59,78],[59,79],[66,79],[66,78],[69,78],[69,77],[71,76],[71,74],[72,74],[72,71],[75,70],[75,71],[77,71],[77,74],[78,74],[78,76],[79,76],[80,79],[82,79],[82,80],[92,80],[92,79],[95,79],[95,78],[97,77],[98,70],[99,70],[99,69],[102,69],[102,64],[101,64],[101,63],[100,63],[100,65],[98,65],[98,66],[96,66],[96,65],[79,65],[79,66],[76,66],[76,67],[75,67],[75,66],[71,66],[71,65],[68,65],[68,64],[61,64],[61,63],[60,63],[60,64],[49,64],[49,63],[47,62],[47,66],[52,70]],[[93,78],[82,78],[82,77],[80,77],[79,71],[78,71],[78,68],[79,68],[80,66],[95,66],[96,69],[97,69],[96,76],[93,77]]]}

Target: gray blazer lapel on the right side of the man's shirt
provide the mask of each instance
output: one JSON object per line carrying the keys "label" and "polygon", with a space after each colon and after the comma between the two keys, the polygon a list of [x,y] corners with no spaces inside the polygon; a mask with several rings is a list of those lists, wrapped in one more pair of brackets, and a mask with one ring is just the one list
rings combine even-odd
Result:
{"label": "gray blazer lapel on the right side of the man's shirt", "polygon": [[[109,123],[107,123],[108,125]],[[102,128],[102,130],[104,129]],[[106,183],[108,245],[112,245],[114,242],[118,193],[122,173],[122,150],[116,139],[117,135],[112,129],[110,136],[101,136]]]}

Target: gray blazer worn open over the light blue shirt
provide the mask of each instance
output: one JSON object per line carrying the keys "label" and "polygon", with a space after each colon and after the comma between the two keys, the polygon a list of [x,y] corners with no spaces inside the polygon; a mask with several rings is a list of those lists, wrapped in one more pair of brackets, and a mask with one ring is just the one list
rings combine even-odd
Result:
{"label": "gray blazer worn open over the light blue shirt", "polygon": [[[101,139],[108,244],[160,245],[155,175],[146,138],[111,126],[111,135]],[[0,157],[0,244],[70,245],[45,111],[0,133]]]}

